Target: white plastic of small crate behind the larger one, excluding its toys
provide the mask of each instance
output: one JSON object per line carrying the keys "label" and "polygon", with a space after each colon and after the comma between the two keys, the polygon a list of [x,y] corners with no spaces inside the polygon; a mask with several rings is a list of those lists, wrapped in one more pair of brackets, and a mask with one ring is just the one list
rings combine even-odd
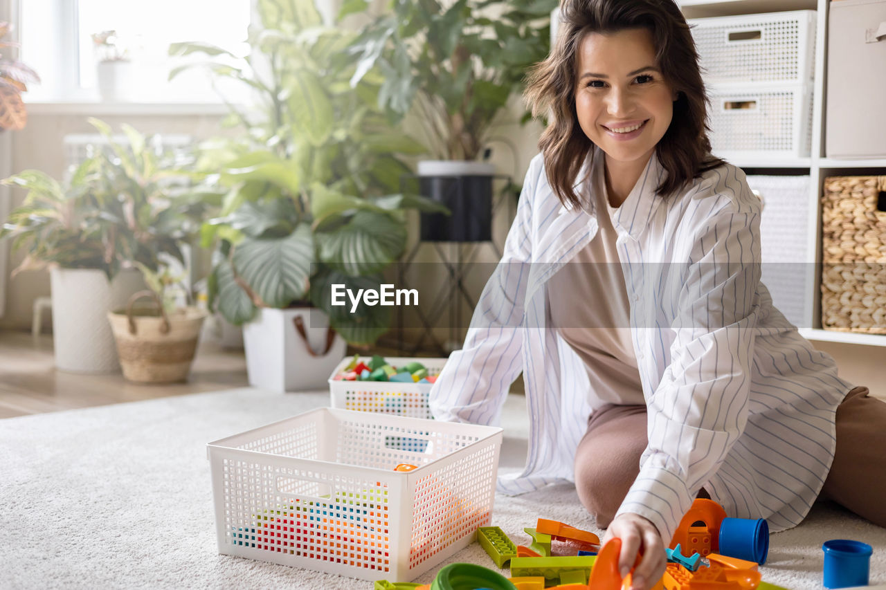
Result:
{"label": "white plastic of small crate behind the larger one, excluding its toys", "polygon": [[[361,361],[369,364],[371,357],[361,357]],[[402,367],[412,361],[421,362],[428,375],[436,377],[443,370],[447,359],[441,358],[402,358],[385,357],[393,367]],[[358,410],[361,412],[380,412],[382,414],[405,415],[410,418],[432,418],[428,407],[428,394],[432,384],[397,383],[392,381],[334,381],[351,359],[338,363],[338,367],[330,376],[330,396],[332,408]]]}

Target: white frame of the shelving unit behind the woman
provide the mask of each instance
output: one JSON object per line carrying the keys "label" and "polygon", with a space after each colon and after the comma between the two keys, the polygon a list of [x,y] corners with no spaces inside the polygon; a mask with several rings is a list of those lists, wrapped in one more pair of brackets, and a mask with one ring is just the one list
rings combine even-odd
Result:
{"label": "white frame of the shelving unit behind the woman", "polygon": [[[812,102],[812,157],[792,160],[759,161],[758,159],[730,159],[735,166],[754,168],[759,174],[766,170],[779,169],[780,174],[810,176],[810,195],[813,206],[810,208],[809,236],[811,264],[817,264],[821,258],[821,206],[820,199],[824,189],[825,178],[834,175],[886,175],[886,157],[878,159],[829,159],[824,157],[825,105],[827,101],[827,63],[828,63],[828,5],[829,0],[678,0],[680,8],[687,19],[703,19],[719,16],[737,16],[761,12],[785,12],[814,10],[817,11],[817,27],[815,39],[815,71]],[[838,332],[821,329],[821,297],[820,267],[816,267],[814,278],[810,276],[805,285],[806,292],[811,293],[812,317],[802,328],[800,334],[810,340],[838,342],[853,345],[886,346],[886,335],[861,334],[855,332]]]}

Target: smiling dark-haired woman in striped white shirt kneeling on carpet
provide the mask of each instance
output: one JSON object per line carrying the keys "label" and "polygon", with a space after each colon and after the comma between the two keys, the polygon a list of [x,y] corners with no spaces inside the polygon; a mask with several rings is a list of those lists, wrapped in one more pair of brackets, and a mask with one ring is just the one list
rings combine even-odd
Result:
{"label": "smiling dark-haired woman in striped white shirt kneeling on carpet", "polygon": [[710,155],[679,8],[563,0],[559,27],[527,89],[549,120],[541,153],[434,415],[498,422],[522,370],[529,453],[501,491],[575,481],[604,542],[622,540],[622,571],[642,554],[634,588],[660,578],[698,495],[780,531],[824,485],[886,525],[864,492],[886,485],[871,450],[886,404],[837,377],[760,283],[761,206]]}

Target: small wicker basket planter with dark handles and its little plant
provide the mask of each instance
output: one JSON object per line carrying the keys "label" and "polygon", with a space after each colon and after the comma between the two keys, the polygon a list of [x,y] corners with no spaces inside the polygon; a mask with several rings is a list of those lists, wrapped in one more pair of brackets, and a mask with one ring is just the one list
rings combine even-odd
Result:
{"label": "small wicker basket planter with dark handles and its little plant", "polygon": [[[123,377],[136,383],[185,381],[197,351],[206,310],[180,305],[181,277],[164,265],[155,272],[139,263],[149,289],[134,293],[123,309],[108,312]],[[140,299],[149,307],[136,307]]]}

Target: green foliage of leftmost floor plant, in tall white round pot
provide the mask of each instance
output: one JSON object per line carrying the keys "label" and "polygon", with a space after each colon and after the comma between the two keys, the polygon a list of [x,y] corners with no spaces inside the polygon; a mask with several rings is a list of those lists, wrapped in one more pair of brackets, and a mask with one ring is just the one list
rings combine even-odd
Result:
{"label": "green foliage of leftmost floor plant, in tall white round pot", "polygon": [[156,270],[164,255],[183,261],[180,245],[196,235],[205,196],[152,138],[124,125],[127,141],[117,143],[104,122],[90,122],[107,145],[66,182],[40,170],[0,181],[27,190],[0,229],[14,250],[27,250],[15,272],[97,268],[111,279],[121,268]]}

